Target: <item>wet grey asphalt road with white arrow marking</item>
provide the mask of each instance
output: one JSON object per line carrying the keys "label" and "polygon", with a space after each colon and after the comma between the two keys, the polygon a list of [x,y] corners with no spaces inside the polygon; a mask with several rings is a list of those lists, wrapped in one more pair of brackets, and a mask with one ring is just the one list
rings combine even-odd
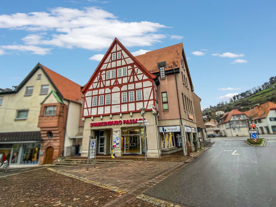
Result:
{"label": "wet grey asphalt road with white arrow marking", "polygon": [[245,139],[211,139],[200,157],[145,193],[194,207],[275,207],[276,135],[264,147]]}

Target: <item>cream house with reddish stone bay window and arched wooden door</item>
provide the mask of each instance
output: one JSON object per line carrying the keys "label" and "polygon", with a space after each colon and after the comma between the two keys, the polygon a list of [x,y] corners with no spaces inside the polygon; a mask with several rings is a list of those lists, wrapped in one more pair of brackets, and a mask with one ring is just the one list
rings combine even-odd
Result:
{"label": "cream house with reddish stone bay window and arched wooden door", "polygon": [[74,137],[83,131],[80,87],[38,63],[15,90],[0,92],[0,161],[51,164],[63,150],[75,154]]}

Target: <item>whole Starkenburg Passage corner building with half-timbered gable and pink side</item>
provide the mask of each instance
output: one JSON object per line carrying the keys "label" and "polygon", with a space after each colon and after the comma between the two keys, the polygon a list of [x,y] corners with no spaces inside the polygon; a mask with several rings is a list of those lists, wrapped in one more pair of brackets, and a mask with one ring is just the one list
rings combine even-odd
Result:
{"label": "whole Starkenburg Passage corner building with half-timbered gable and pink side", "polygon": [[193,85],[182,43],[134,57],[115,38],[82,92],[81,156],[88,154],[89,136],[97,138],[97,154],[112,147],[118,157],[144,154],[142,107],[148,157],[194,150]]}

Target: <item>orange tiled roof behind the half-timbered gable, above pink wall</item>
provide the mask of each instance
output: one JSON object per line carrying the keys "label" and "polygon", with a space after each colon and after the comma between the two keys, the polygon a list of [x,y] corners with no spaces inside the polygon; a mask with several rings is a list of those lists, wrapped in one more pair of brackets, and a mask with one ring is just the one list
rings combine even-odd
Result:
{"label": "orange tiled roof behind the half-timbered gable, above pink wall", "polygon": [[151,73],[158,72],[157,63],[166,61],[167,68],[179,68],[181,62],[183,44],[172,45],[161,49],[147,52],[143,55],[137,55],[135,58]]}

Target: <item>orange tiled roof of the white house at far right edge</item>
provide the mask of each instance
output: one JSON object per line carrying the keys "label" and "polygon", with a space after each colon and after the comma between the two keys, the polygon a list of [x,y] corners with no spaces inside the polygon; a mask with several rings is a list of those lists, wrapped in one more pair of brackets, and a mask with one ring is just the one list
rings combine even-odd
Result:
{"label": "orange tiled roof of the white house at far right edge", "polygon": [[[276,104],[269,101],[269,102],[266,102],[264,104],[261,104],[259,106],[255,106],[253,109],[252,109],[252,114],[254,116],[255,119],[258,119],[258,118],[265,118],[269,111],[270,110],[275,110],[276,109]],[[246,116],[248,117],[251,117],[251,110],[248,110],[246,112],[244,112],[244,114],[246,114]]]}

